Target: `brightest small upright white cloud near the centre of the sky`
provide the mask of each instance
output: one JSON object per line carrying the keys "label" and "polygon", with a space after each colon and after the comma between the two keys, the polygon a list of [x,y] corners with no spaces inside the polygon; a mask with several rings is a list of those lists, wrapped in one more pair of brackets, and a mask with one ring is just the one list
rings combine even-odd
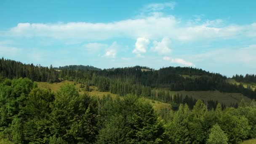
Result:
{"label": "brightest small upright white cloud near the centre of the sky", "polygon": [[135,48],[133,50],[133,53],[136,53],[137,56],[141,56],[141,53],[146,53],[147,52],[147,46],[149,44],[149,39],[145,37],[139,37],[136,40],[135,43]]}

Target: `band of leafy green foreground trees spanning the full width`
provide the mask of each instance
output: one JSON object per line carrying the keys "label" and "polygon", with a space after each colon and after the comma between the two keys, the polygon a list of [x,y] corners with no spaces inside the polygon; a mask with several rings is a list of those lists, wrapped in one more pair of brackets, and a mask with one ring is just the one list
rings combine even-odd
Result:
{"label": "band of leafy green foreground trees spanning the full width", "polygon": [[[180,96],[179,96],[180,99]],[[175,101],[180,101],[178,97]],[[238,144],[256,138],[256,103],[237,109],[203,101],[155,112],[143,98],[53,93],[27,78],[0,79],[0,141],[15,144]]]}

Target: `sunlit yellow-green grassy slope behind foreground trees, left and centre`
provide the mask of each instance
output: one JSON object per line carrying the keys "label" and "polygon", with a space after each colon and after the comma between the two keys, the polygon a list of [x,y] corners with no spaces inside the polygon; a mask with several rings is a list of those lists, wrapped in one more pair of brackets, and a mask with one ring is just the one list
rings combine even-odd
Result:
{"label": "sunlit yellow-green grassy slope behind foreground trees, left and centre", "polygon": [[[53,84],[45,83],[45,82],[37,82],[37,85],[38,85],[39,88],[50,88],[52,91],[58,91],[60,89],[61,85],[64,85],[66,83],[74,85],[74,82],[70,82],[70,81],[62,81],[61,83],[53,83]],[[100,99],[104,95],[107,96],[108,94],[113,99],[115,99],[117,97],[116,94],[113,94],[113,93],[110,93],[110,92],[97,91],[97,87],[95,87],[95,86],[90,86],[90,89],[92,90],[91,92],[84,92],[82,90],[82,88],[79,88],[79,86],[80,86],[80,84],[77,84],[77,85],[75,85],[75,88],[77,88],[78,91],[80,90],[79,91],[80,94],[88,93],[89,95],[97,96]],[[121,97],[121,99],[122,99],[122,97]],[[166,103],[163,103],[163,102],[160,102],[160,101],[154,101],[153,102],[151,99],[146,99],[146,98],[145,98],[145,101],[149,101],[149,103],[151,103],[153,105],[153,108],[155,110],[159,110],[159,109],[163,109],[163,108],[171,109],[171,104],[166,104]]]}

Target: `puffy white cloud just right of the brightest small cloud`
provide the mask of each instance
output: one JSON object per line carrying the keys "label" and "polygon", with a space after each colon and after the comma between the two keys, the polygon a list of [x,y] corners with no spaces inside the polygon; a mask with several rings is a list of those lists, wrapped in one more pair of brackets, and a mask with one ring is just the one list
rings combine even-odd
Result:
{"label": "puffy white cloud just right of the brightest small cloud", "polygon": [[162,41],[153,42],[152,51],[155,51],[159,54],[166,54],[171,52],[171,40],[168,37],[164,37]]}

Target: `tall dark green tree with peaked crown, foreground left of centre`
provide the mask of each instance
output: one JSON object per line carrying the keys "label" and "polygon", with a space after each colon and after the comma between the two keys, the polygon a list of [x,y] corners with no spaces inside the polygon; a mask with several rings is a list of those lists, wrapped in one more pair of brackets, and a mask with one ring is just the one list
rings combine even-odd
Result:
{"label": "tall dark green tree with peaked crown, foreground left of centre", "polygon": [[89,96],[79,95],[73,85],[64,85],[53,102],[51,133],[69,143],[90,143],[96,136],[96,107]]}

